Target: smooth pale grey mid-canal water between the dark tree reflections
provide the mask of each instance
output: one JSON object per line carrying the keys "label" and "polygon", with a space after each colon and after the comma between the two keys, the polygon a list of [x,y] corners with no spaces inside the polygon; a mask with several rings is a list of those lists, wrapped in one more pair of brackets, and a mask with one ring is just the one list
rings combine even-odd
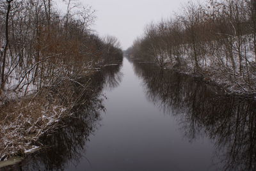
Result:
{"label": "smooth pale grey mid-canal water between the dark tree reflections", "polygon": [[[105,89],[106,113],[77,166],[67,170],[207,170],[214,144],[205,136],[190,142],[175,116],[148,100],[143,80],[124,59],[123,78]],[[160,80],[159,80],[160,81]],[[89,162],[90,161],[90,162]]]}

